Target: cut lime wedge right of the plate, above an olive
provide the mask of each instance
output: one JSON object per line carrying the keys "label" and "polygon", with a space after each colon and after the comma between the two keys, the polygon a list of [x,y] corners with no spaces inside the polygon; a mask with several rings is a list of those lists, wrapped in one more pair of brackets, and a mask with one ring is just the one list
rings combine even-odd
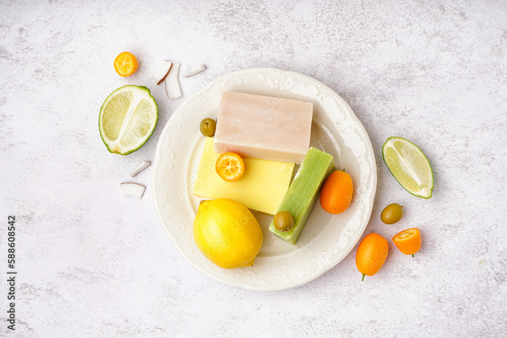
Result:
{"label": "cut lime wedge right of the plate, above an olive", "polygon": [[433,171],[417,145],[403,137],[389,137],[382,146],[382,157],[391,174],[409,193],[431,197]]}

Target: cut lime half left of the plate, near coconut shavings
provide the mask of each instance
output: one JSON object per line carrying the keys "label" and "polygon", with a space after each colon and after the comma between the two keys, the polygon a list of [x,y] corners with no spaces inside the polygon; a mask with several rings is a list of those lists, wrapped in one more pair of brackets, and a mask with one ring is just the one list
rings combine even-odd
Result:
{"label": "cut lime half left of the plate, near coconut shavings", "polygon": [[100,136],[111,153],[135,152],[152,136],[158,106],[146,87],[123,86],[111,93],[98,116]]}

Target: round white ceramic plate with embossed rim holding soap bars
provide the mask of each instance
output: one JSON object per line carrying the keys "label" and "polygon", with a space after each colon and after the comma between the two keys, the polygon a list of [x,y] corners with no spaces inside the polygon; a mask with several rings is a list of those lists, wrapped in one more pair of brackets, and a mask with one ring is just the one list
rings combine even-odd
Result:
{"label": "round white ceramic plate with embossed rim holding soap bars", "polygon": [[[333,155],[335,170],[346,168],[354,184],[352,203],[342,214],[331,215],[317,202],[295,246],[269,232],[272,217],[256,214],[264,235],[261,251],[252,267],[234,270],[207,260],[192,235],[200,198],[191,192],[205,140],[199,122],[216,119],[224,90],[313,102],[310,145]],[[345,258],[365,231],[377,189],[372,144],[349,105],[317,80],[274,68],[238,70],[189,96],[160,135],[152,172],[155,209],[179,253],[216,281],[263,291],[312,281]]]}

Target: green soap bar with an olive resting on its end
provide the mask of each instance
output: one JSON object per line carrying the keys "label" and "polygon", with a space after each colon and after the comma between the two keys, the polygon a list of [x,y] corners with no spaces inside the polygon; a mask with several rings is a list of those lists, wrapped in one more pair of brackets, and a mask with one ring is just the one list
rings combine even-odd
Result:
{"label": "green soap bar with an olive resting on its end", "polygon": [[313,147],[310,148],[276,211],[290,212],[294,217],[294,228],[285,233],[279,232],[275,229],[272,221],[269,231],[294,245],[315,206],[315,202],[317,202],[320,186],[334,167],[335,160],[333,156]]}

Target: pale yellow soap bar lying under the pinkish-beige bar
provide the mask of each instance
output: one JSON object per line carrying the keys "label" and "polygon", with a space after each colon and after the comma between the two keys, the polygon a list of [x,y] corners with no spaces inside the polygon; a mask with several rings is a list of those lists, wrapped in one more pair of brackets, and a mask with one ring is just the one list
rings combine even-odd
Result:
{"label": "pale yellow soap bar lying under the pinkish-beige bar", "polygon": [[207,137],[192,190],[207,198],[230,198],[247,208],[274,215],[291,183],[294,163],[244,158],[245,172],[240,179],[226,182],[215,171],[213,138]]}

